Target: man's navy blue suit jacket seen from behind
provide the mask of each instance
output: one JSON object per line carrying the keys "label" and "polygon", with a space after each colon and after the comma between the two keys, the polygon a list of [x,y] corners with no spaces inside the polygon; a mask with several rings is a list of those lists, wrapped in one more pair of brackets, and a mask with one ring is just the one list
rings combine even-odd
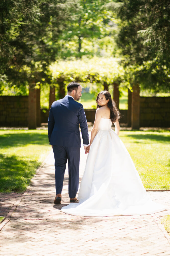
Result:
{"label": "man's navy blue suit jacket seen from behind", "polygon": [[88,126],[83,105],[69,96],[53,102],[48,117],[50,145],[80,147],[80,130],[83,144],[89,144]]}

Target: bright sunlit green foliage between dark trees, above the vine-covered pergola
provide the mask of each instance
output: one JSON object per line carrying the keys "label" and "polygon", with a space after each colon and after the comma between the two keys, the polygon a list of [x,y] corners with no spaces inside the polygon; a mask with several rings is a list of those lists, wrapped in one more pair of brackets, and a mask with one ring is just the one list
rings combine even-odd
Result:
{"label": "bright sunlit green foliage between dark trees, above the vine-covered pergola", "polygon": [[79,0],[73,22],[63,31],[60,44],[60,57],[82,57],[88,55],[111,55],[115,51],[115,18],[107,3],[110,0]]}

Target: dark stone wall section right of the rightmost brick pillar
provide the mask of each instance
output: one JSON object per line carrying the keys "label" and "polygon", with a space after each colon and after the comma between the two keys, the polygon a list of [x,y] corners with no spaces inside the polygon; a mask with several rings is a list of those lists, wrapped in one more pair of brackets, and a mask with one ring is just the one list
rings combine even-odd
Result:
{"label": "dark stone wall section right of the rightmost brick pillar", "polygon": [[170,127],[170,97],[140,97],[140,127]]}

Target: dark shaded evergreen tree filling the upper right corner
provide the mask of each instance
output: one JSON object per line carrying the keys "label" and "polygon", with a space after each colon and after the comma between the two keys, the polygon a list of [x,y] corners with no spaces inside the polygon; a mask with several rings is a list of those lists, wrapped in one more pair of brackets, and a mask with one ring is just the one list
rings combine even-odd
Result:
{"label": "dark shaded evergreen tree filling the upper right corner", "polygon": [[120,19],[117,45],[124,56],[126,79],[155,91],[169,89],[169,2],[112,2]]}

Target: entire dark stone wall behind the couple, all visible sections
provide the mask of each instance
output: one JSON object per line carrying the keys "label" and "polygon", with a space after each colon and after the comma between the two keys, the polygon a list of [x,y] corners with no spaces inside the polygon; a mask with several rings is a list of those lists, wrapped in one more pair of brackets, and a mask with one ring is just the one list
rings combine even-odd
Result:
{"label": "entire dark stone wall behind the couple, all visible sections", "polygon": [[[28,96],[0,96],[0,126],[28,126]],[[95,109],[86,109],[88,122],[94,122]],[[120,123],[127,123],[127,110],[120,110]],[[47,123],[48,110],[41,110],[41,123]],[[170,127],[170,97],[140,97],[140,127]]]}

